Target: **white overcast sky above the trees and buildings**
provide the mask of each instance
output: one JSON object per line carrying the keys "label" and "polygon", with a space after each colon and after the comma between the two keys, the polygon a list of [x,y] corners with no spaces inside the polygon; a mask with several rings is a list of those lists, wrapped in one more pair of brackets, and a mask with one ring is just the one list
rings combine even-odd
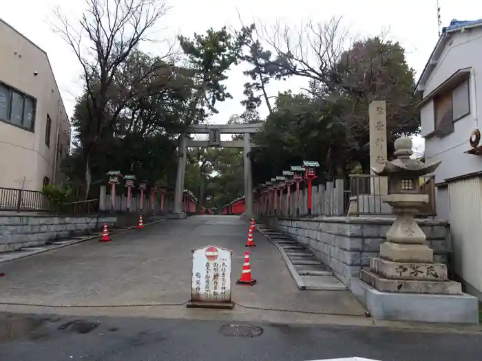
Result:
{"label": "white overcast sky above the trees and buildings", "polygon": [[[437,42],[437,0],[168,0],[171,7],[158,24],[154,38],[158,43],[145,45],[143,50],[152,54],[163,54],[165,43],[172,41],[176,34],[191,36],[194,32],[205,32],[223,25],[240,24],[238,12],[244,23],[253,19],[266,24],[274,24],[277,19],[291,27],[299,26],[303,20],[325,22],[331,17],[343,16],[344,25],[350,33],[358,36],[377,35],[388,31],[388,38],[397,40],[406,49],[408,64],[417,72],[417,77]],[[63,95],[67,113],[72,115],[75,97],[81,87],[78,80],[80,69],[76,58],[59,36],[52,33],[49,21],[54,21],[52,9],[61,5],[61,11],[72,21],[85,6],[84,0],[14,0],[1,1],[0,17],[19,32],[39,45],[48,53],[57,83]],[[452,19],[474,20],[482,17],[480,0],[439,0],[441,20],[448,25]],[[226,122],[233,113],[242,113],[239,104],[242,99],[242,85],[247,78],[242,69],[234,69],[229,74],[227,87],[233,95],[219,105],[219,114],[209,122]],[[306,80],[291,79],[283,83],[273,83],[269,88],[271,96],[278,91],[297,91],[306,85]],[[266,109],[260,110],[266,116]],[[417,140],[417,148],[423,147]]]}

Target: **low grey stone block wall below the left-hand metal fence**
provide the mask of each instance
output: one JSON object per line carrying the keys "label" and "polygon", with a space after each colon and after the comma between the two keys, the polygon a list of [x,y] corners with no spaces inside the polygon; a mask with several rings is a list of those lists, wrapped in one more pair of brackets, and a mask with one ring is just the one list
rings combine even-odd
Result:
{"label": "low grey stone block wall below the left-hand metal fence", "polygon": [[0,252],[63,239],[70,234],[100,228],[104,223],[112,225],[116,217],[0,216]]}

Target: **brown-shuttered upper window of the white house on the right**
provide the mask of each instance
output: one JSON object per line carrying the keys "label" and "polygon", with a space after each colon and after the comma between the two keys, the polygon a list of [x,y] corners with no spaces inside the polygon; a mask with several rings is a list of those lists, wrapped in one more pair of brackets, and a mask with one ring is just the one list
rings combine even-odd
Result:
{"label": "brown-shuttered upper window of the white house on the right", "polygon": [[470,114],[469,80],[434,98],[435,133],[439,136],[454,131],[454,122]]}

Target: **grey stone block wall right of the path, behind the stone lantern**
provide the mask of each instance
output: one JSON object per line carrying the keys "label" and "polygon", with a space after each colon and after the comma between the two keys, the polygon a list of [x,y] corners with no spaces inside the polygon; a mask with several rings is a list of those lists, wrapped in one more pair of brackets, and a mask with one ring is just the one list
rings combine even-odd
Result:
{"label": "grey stone block wall right of the path, behind the stone lantern", "polygon": [[[275,219],[270,223],[285,234],[307,245],[315,256],[333,269],[335,276],[347,287],[358,278],[369,258],[378,256],[386,241],[392,217],[315,217],[313,219]],[[434,250],[434,261],[447,263],[450,252],[450,232],[443,220],[418,219]]]}

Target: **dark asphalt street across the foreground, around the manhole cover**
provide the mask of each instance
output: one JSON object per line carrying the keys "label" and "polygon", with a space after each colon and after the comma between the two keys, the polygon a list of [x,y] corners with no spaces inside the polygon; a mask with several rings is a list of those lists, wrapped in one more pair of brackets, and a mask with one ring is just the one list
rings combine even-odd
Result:
{"label": "dark asphalt street across the foreground, around the manhole cover", "polygon": [[[213,320],[0,314],[0,360],[306,361],[358,356],[381,361],[471,361],[482,358],[482,333],[251,322],[262,328],[262,334],[240,337],[224,336],[220,333],[223,325],[227,323]],[[229,330],[233,333],[232,327]],[[236,330],[241,331],[239,327]]]}

